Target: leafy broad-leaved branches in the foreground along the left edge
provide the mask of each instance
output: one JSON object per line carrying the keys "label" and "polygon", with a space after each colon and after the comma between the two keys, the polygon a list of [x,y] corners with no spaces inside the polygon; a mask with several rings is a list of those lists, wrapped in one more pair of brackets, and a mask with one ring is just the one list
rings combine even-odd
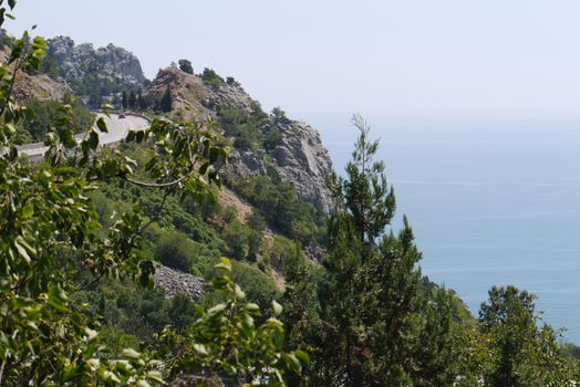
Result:
{"label": "leafy broad-leaved branches in the foreground along the left edge", "polygon": [[14,125],[30,117],[30,109],[14,103],[11,90],[14,72],[38,69],[46,46],[41,38],[27,44],[28,36],[14,40],[8,63],[0,66],[0,383],[160,381],[157,363],[146,354],[124,349],[105,356],[99,322],[71,306],[79,271],[96,279],[134,279],[142,285],[151,284],[153,271],[151,262],[136,254],[146,226],[139,208],[121,213],[100,237],[87,194],[99,181],[122,179],[164,189],[166,196],[185,188],[199,197],[209,184],[219,184],[213,164],[226,151],[211,145],[203,125],[157,119],[126,139],[149,144],[156,155],[144,167],[145,180],[139,180],[132,177],[135,161],[120,151],[96,154],[99,132],[107,130],[104,121],[99,119],[79,144],[71,127],[72,108],[64,106],[46,135],[45,161],[31,166],[13,144]]}

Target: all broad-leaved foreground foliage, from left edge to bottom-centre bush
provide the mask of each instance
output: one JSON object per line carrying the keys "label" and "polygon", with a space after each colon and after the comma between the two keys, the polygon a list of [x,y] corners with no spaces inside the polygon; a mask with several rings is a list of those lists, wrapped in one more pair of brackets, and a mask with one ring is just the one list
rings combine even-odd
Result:
{"label": "all broad-leaved foreground foliage, from left edge to bottom-centre bush", "polygon": [[[6,12],[2,3],[0,12]],[[15,71],[40,65],[44,40],[28,42],[24,33],[12,44],[9,64]],[[219,186],[214,164],[224,163],[227,153],[213,145],[204,124],[154,119],[148,129],[131,132],[125,142],[151,154],[139,164],[117,149],[96,151],[99,130],[107,129],[103,119],[77,144],[74,117],[65,107],[49,127],[45,159],[32,165],[14,146],[14,126],[31,109],[12,100],[12,83],[8,72],[0,72],[0,384],[149,386],[191,373],[186,376],[238,383],[267,376],[270,385],[281,385],[286,374],[299,374],[308,356],[282,349],[283,328],[276,318],[253,321],[259,307],[246,302],[230,280],[227,259],[213,281],[224,301],[207,312],[193,313],[183,297],[167,307],[155,293],[149,293],[152,302],[142,297],[135,303],[136,295],[114,289],[117,280],[123,286],[153,284],[143,233],[164,210],[166,198],[179,191],[199,201],[210,185]],[[147,219],[138,202],[107,207],[97,195],[95,202],[104,205],[97,212],[91,195],[117,186],[156,191],[163,200]],[[107,306],[106,290],[91,293],[107,280],[117,295],[111,306],[123,313]],[[273,303],[272,311],[278,315],[280,305]],[[139,339],[166,322],[174,326],[164,339],[182,343],[178,353],[163,352],[155,336],[148,345]],[[113,343],[108,352],[106,342]]]}

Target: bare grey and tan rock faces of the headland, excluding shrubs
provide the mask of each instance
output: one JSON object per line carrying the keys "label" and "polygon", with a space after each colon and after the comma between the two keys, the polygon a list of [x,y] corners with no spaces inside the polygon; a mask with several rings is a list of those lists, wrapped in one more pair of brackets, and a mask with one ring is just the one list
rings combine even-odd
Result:
{"label": "bare grey and tan rock faces of the headland, excluding shrubs", "polygon": [[[251,113],[259,108],[236,82],[219,87],[206,84],[200,76],[178,69],[160,70],[145,90],[149,100],[159,98],[169,87],[173,108],[190,107],[199,117],[217,117],[220,108],[235,106]],[[276,145],[263,148],[237,148],[231,151],[228,170],[236,177],[266,175],[267,158],[278,175],[292,184],[298,195],[324,211],[330,209],[331,196],[325,178],[332,172],[332,161],[319,133],[310,125],[268,115],[261,123],[262,135],[276,134]],[[269,157],[267,157],[267,155]]]}

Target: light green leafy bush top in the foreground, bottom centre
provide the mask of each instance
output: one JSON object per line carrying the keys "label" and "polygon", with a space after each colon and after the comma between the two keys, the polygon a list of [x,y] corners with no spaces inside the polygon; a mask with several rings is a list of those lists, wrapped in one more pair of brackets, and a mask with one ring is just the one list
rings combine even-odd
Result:
{"label": "light green leafy bush top in the foreground, bottom centre", "polygon": [[228,276],[227,259],[216,266],[220,275],[211,284],[224,296],[194,323],[185,335],[165,333],[169,373],[196,386],[269,385],[283,386],[287,373],[300,375],[309,357],[302,351],[284,352],[283,326],[276,318],[282,307],[272,301],[273,316],[262,323],[257,304]]}

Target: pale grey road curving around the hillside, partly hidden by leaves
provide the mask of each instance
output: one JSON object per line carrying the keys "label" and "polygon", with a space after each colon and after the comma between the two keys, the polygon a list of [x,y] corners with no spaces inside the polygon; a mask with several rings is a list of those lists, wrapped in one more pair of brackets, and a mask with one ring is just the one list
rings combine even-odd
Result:
{"label": "pale grey road curving around the hillside, partly hidden by leaves", "polygon": [[[97,117],[103,117],[105,121],[108,133],[100,133],[99,140],[100,145],[107,145],[118,143],[127,136],[131,129],[143,129],[149,126],[149,122],[143,117],[127,114],[125,118],[118,118],[118,115],[111,114],[111,117],[99,113]],[[75,136],[76,140],[80,142],[84,136],[81,133]],[[18,147],[20,153],[28,155],[30,158],[38,158],[44,155],[48,147],[43,143],[27,144]]]}

